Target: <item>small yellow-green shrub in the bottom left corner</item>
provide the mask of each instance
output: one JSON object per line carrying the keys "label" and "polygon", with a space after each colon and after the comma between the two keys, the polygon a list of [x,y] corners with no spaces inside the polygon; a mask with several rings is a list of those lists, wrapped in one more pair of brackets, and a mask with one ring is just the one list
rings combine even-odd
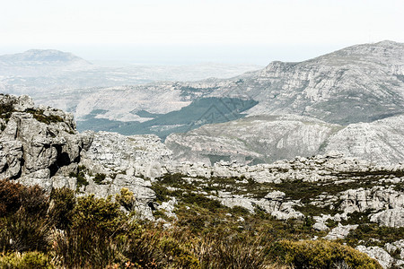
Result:
{"label": "small yellow-green shrub in the bottom left corner", "polygon": [[51,259],[40,252],[13,252],[0,255],[0,268],[4,269],[52,269]]}

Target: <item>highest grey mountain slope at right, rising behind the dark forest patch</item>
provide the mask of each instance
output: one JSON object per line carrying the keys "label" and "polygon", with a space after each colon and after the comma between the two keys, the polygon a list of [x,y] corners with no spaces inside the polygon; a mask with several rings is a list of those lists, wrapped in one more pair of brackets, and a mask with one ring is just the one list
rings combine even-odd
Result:
{"label": "highest grey mountain slope at right, rising behind the dark forest patch", "polygon": [[301,63],[273,62],[215,91],[259,101],[251,114],[297,114],[347,125],[403,112],[404,44],[343,48]]}

